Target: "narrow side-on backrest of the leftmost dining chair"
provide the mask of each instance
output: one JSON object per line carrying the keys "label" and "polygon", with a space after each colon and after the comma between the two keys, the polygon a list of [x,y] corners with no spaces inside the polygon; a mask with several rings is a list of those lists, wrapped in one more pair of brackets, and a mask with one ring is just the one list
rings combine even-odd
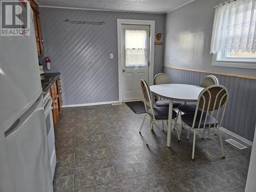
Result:
{"label": "narrow side-on backrest of the leftmost dining chair", "polygon": [[[148,115],[150,115],[153,119],[155,119],[155,116],[153,113],[153,105],[151,101],[150,86],[148,86],[147,82],[143,79],[140,80],[140,86],[141,86],[143,101],[145,105],[145,110]],[[152,114],[148,113],[148,110],[151,110]]]}

